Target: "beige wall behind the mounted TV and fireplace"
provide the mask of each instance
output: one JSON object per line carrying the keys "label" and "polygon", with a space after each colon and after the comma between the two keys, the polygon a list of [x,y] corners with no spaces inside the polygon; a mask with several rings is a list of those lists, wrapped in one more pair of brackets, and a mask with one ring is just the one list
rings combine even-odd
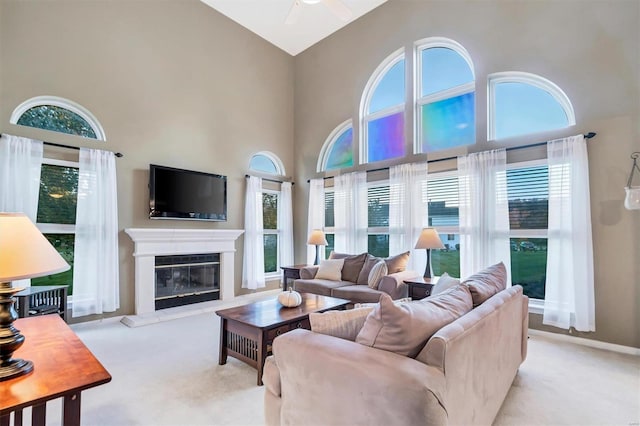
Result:
{"label": "beige wall behind the mounted TV and fireplace", "polygon": [[[115,314],[134,303],[133,243],[122,229],[242,229],[251,154],[271,151],[293,170],[293,58],[200,1],[0,0],[0,11],[0,132],[124,153]],[[107,142],[9,124],[38,95],[89,109]],[[149,220],[150,163],[227,175],[229,220]],[[242,294],[242,237],[236,249]]]}

